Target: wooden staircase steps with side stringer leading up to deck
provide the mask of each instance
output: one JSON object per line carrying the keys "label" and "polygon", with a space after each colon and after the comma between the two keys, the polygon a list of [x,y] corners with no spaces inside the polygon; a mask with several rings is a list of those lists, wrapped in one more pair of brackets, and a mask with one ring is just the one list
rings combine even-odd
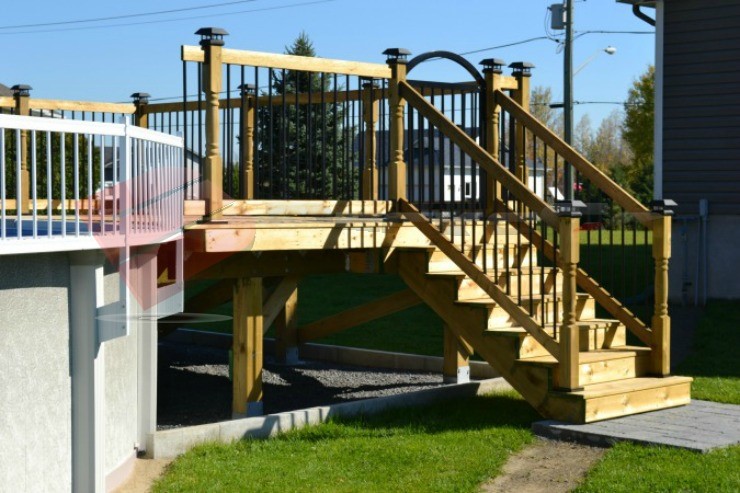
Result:
{"label": "wooden staircase steps with side stringer leading up to deck", "polygon": [[[516,322],[510,306],[494,301],[487,291],[490,286],[475,279],[477,275],[485,276],[498,286],[499,295],[503,294],[509,304],[527,312],[545,334],[559,342],[560,269],[537,266],[536,249],[526,242],[525,248],[533,248],[533,254],[517,255],[521,239],[509,242],[510,248],[499,245],[495,256],[489,244],[487,255],[477,251],[473,262],[472,250],[463,253],[455,249],[433,222],[416,224],[435,246],[398,249],[399,274],[459,338],[544,416],[584,423],[689,402],[691,379],[651,377],[651,349],[628,345],[625,326],[617,320],[598,318],[594,298],[582,292],[577,293],[576,300],[580,388],[561,389],[558,358]],[[511,248],[514,246],[517,248]],[[485,274],[484,257],[489,263]],[[495,263],[490,259],[499,262],[497,272],[490,268]],[[523,268],[524,262],[530,265]],[[530,277],[536,282],[530,283]],[[549,281],[541,283],[543,278]],[[555,317],[557,320],[553,320]]]}

